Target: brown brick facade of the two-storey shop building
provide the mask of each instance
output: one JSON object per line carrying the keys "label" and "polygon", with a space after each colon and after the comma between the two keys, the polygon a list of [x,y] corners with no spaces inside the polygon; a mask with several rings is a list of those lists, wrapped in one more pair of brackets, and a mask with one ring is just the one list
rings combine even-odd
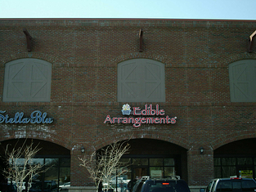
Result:
{"label": "brown brick facade of the two-storey shop building", "polygon": [[[23,28],[33,38],[30,52]],[[0,141],[29,137],[65,147],[71,185],[77,186],[89,182],[78,165],[81,145],[90,154],[130,136],[168,141],[187,151],[183,175],[189,185],[206,185],[214,150],[256,138],[256,104],[231,102],[228,75],[231,63],[256,59],[255,51],[247,51],[255,29],[256,22],[245,20],[0,20],[0,110],[11,116],[37,109],[55,119],[47,126],[0,124]],[[21,58],[52,64],[51,102],[2,102],[5,64]],[[137,58],[164,63],[166,101],[159,106],[177,116],[176,124],[103,123],[124,105],[117,102],[117,65]]]}

